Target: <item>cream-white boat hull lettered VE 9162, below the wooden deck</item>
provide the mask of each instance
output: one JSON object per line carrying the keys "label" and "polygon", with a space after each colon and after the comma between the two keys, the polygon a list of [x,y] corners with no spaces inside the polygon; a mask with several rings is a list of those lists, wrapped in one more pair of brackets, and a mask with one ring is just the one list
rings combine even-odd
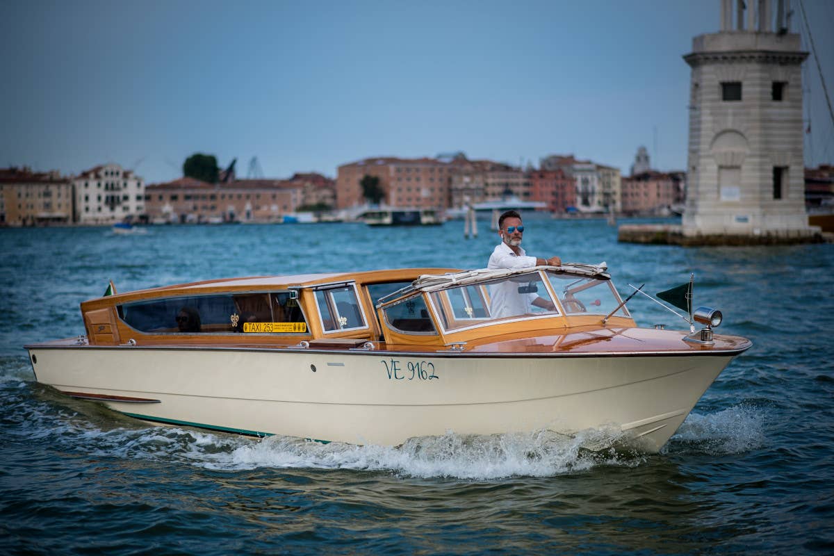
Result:
{"label": "cream-white boat hull lettered VE 9162, below the wooden deck", "polygon": [[448,431],[615,426],[648,452],[675,433],[735,355],[28,349],[38,382],[163,423],[382,445]]}

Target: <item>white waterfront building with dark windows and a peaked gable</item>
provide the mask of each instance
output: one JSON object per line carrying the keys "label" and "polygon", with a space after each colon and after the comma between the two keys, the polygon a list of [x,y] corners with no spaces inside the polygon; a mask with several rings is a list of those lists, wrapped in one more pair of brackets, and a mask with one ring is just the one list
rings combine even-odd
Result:
{"label": "white waterfront building with dark windows and a peaked gable", "polygon": [[90,168],[73,178],[75,214],[79,224],[113,224],[145,212],[144,180],[118,164]]}

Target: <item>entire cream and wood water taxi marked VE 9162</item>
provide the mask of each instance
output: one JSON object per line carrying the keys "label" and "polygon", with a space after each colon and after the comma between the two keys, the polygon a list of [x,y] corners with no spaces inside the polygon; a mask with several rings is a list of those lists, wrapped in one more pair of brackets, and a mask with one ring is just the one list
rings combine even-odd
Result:
{"label": "entire cream and wood water taxi marked VE 9162", "polygon": [[35,376],[135,418],[407,438],[613,426],[656,452],[746,338],[636,326],[604,266],[410,268],[187,283],[81,303]]}

